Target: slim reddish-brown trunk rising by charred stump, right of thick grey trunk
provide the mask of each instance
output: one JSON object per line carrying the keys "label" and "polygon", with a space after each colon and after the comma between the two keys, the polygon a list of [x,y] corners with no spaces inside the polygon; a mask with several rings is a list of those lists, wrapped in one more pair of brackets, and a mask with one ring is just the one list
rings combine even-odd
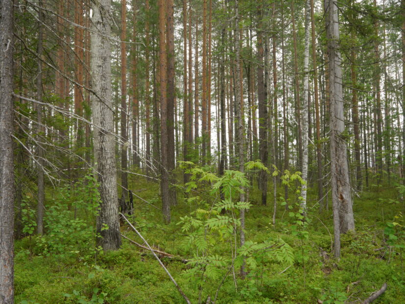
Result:
{"label": "slim reddish-brown trunk rising by charred stump, right of thick grey trunk", "polygon": [[126,106],[126,0],[121,0],[121,186],[122,198],[128,196],[128,160],[126,129],[127,106]]}

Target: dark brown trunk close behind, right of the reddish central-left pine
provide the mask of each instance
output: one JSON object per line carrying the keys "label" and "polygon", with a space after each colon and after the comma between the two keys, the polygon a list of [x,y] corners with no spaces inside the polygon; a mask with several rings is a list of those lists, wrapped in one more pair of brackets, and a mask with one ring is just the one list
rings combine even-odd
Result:
{"label": "dark brown trunk close behind, right of the reddish central-left pine", "polygon": [[[173,24],[173,0],[167,0],[167,171],[170,183],[175,183],[174,177],[174,24]],[[177,204],[177,195],[174,187],[169,187],[169,202]]]}

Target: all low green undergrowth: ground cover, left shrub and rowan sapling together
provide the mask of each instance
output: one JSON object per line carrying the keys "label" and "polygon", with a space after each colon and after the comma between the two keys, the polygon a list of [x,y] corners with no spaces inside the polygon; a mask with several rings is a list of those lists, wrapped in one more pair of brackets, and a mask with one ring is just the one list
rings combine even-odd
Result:
{"label": "all low green undergrowth: ground cover, left shrub and rowan sapling together", "polygon": [[[300,174],[280,174],[273,226],[273,207],[257,203],[261,193],[250,186],[256,184],[255,163],[245,167],[245,174],[226,171],[218,178],[208,166],[183,163],[191,180],[178,188],[169,225],[162,224],[158,183],[129,178],[135,195],[129,220],[153,249],[170,253],[157,254],[191,303],[208,298],[215,303],[358,303],[384,282],[388,288],[375,303],[404,303],[403,186],[384,184],[354,198],[356,232],[342,234],[338,261],[332,254],[331,206],[319,213],[315,189],[309,188],[303,219],[296,194]],[[238,203],[240,186],[249,203]],[[93,177],[48,188],[47,195],[52,202],[46,205],[42,236],[32,234],[34,206],[29,195],[24,200],[26,236],[15,244],[16,303],[183,303],[149,251],[124,238],[118,251],[95,248],[99,196]],[[241,209],[246,242],[239,248]],[[120,231],[143,244],[123,221]]]}

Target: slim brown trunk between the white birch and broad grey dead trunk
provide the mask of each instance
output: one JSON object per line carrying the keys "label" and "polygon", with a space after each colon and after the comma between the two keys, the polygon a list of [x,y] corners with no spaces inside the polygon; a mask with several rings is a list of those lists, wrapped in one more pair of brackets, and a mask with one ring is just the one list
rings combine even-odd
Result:
{"label": "slim brown trunk between the white birch and broad grey dead trunk", "polygon": [[315,13],[313,0],[311,4],[311,40],[312,40],[312,67],[313,67],[313,91],[315,101],[315,125],[316,125],[316,164],[318,181],[318,201],[323,203],[323,182],[322,182],[322,152],[321,152],[321,124],[319,115],[319,97],[318,97],[318,66],[316,63],[316,41],[315,41]]}

